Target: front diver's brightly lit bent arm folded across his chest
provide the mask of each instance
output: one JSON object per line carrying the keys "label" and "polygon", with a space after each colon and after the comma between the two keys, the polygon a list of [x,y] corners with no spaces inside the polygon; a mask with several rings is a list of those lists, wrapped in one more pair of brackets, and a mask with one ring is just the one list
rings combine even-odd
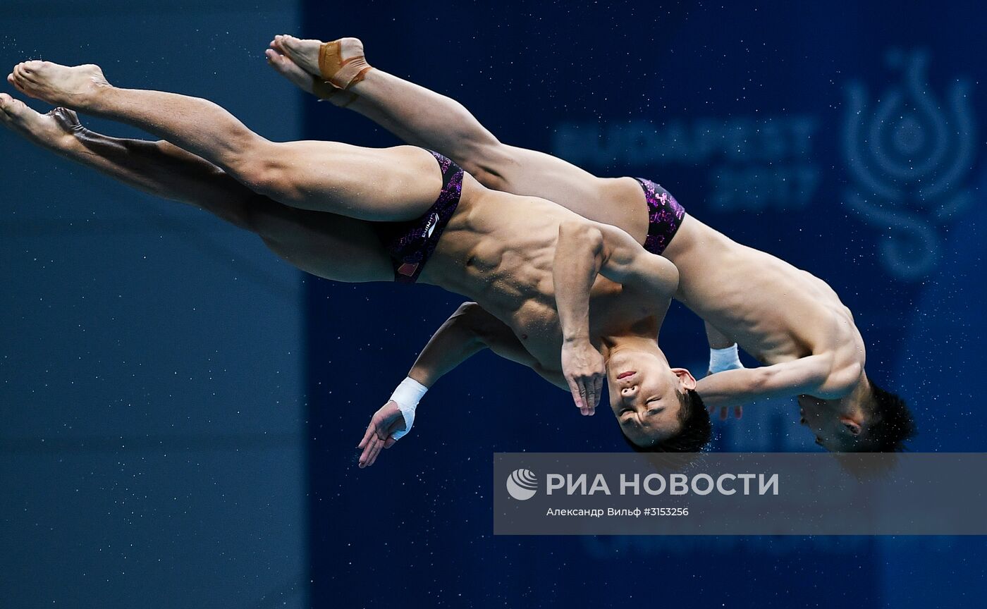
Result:
{"label": "front diver's brightly lit bent arm folded across his chest", "polygon": [[589,340],[589,295],[598,274],[666,306],[678,286],[674,265],[647,253],[619,228],[580,220],[560,225],[553,282],[563,332],[562,364],[572,400],[583,415],[593,414],[603,389],[603,357]]}

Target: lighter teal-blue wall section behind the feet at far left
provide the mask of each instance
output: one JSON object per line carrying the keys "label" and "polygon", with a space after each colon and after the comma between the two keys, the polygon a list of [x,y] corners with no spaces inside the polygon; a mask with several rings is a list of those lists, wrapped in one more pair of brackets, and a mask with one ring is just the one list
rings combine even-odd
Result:
{"label": "lighter teal-blue wall section behind the feet at far left", "polygon": [[[297,138],[263,53],[298,22],[294,0],[3,0],[0,75],[96,62]],[[301,303],[260,240],[0,128],[0,607],[306,606]]]}

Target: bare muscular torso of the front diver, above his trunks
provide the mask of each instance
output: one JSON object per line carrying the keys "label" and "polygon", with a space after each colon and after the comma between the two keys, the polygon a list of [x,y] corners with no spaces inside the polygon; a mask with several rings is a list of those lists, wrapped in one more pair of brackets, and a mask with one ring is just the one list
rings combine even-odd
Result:
{"label": "bare muscular torso of the front diver, above his trunks", "polygon": [[[478,302],[545,370],[560,371],[553,265],[559,225],[573,219],[581,218],[551,201],[487,190],[470,179],[421,278]],[[593,343],[645,320],[655,323],[651,300],[597,276],[590,291]]]}

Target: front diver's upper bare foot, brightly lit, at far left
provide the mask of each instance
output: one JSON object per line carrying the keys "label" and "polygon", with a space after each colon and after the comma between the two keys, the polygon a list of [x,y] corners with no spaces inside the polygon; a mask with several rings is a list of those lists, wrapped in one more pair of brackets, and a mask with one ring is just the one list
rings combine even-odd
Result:
{"label": "front diver's upper bare foot, brightly lit, at far left", "polygon": [[25,61],[14,66],[7,81],[27,95],[53,106],[83,109],[101,90],[109,89],[100,66],[68,67],[50,61]]}

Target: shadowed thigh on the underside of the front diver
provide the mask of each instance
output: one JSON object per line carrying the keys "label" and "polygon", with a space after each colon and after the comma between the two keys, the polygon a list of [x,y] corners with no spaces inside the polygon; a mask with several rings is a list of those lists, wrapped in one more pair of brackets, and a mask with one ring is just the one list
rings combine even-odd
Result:
{"label": "shadowed thigh on the underside of the front diver", "polygon": [[347,283],[394,280],[370,222],[267,199],[257,204],[252,223],[271,252],[306,272]]}

